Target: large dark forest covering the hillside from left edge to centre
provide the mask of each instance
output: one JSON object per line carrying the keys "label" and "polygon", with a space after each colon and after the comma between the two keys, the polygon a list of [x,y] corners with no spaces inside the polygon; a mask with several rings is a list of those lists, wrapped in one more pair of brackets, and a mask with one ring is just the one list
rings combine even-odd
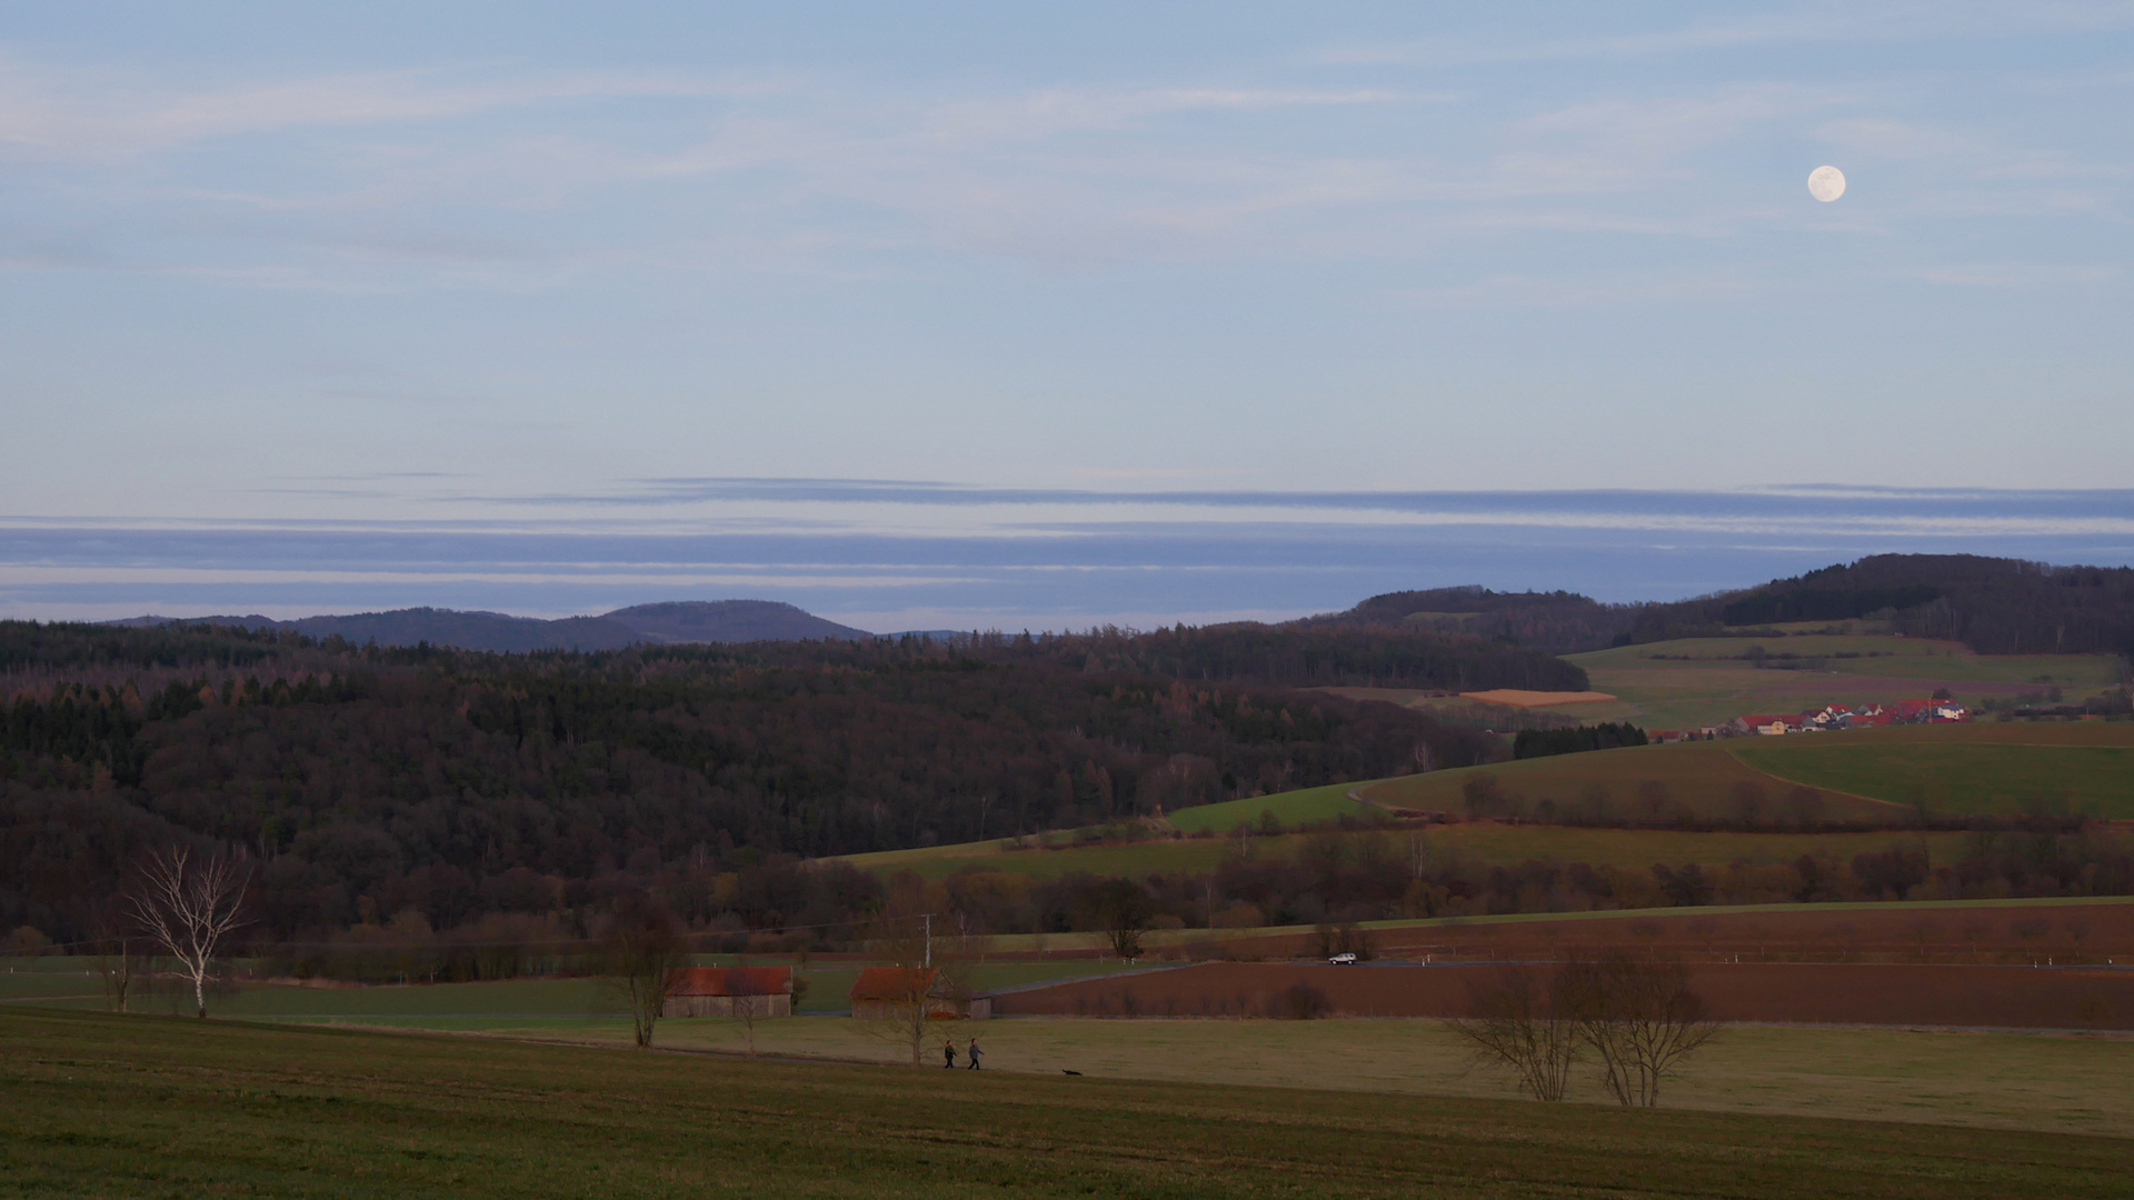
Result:
{"label": "large dark forest covering the hillside from left edge to centre", "polygon": [[444,927],[546,912],[557,880],[1485,762],[1494,737],[1283,683],[1575,673],[1472,638],[1263,628],[482,656],[28,623],[0,623],[0,925],[60,937],[175,839],[254,854],[273,935],[403,910]]}

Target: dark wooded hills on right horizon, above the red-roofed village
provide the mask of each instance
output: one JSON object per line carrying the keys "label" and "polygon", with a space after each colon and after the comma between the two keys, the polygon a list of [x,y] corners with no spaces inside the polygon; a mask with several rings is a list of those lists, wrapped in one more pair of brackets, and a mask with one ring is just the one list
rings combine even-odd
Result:
{"label": "dark wooded hills on right horizon, above the red-roofed village", "polygon": [[2134,656],[2134,570],[1980,555],[1874,555],[1671,604],[1600,604],[1571,591],[1389,591],[1323,628],[1426,628],[1581,653],[1692,636],[1784,636],[1771,626],[1884,621],[1976,653]]}

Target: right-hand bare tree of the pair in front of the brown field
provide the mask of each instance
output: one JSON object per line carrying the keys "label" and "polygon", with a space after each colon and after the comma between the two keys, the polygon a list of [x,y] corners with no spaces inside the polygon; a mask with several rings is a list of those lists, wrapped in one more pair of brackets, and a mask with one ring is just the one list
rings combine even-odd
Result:
{"label": "right-hand bare tree of the pair in front of the brown field", "polygon": [[1579,1042],[1600,1059],[1600,1083],[1624,1108],[1660,1102],[1660,1080],[1718,1033],[1677,961],[1609,954],[1571,963],[1564,999]]}

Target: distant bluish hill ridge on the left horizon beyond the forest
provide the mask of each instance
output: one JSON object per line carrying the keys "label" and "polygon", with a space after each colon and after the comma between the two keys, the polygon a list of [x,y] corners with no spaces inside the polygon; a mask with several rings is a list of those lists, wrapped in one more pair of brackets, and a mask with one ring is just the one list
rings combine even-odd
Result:
{"label": "distant bluish hill ridge on the left horizon beyond the forest", "polygon": [[248,630],[294,630],[316,638],[344,636],[352,643],[442,645],[495,653],[531,649],[621,649],[625,645],[764,643],[764,641],[860,641],[875,634],[826,621],[779,600],[674,600],[636,604],[598,617],[512,617],[508,613],[463,613],[457,609],[393,609],[299,617],[132,617],[115,626],[239,626]]}

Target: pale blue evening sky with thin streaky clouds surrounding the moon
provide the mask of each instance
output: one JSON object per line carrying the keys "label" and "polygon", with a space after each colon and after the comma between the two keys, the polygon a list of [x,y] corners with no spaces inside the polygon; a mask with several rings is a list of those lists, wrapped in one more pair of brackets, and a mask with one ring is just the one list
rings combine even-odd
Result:
{"label": "pale blue evening sky with thin streaky clouds surrounding the moon", "polygon": [[2125,564],[2130,111],[2125,2],[0,0],[0,615]]}

